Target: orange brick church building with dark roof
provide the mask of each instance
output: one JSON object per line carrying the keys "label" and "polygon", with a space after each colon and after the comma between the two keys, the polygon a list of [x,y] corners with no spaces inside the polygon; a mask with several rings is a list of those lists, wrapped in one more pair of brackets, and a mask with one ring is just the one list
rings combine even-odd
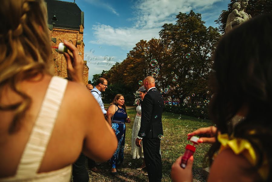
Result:
{"label": "orange brick church building with dark roof", "polygon": [[[84,60],[84,12],[74,2],[59,0],[45,0],[48,13],[48,28],[51,38],[51,45],[58,46],[59,43],[67,40],[74,44]],[[52,48],[55,75],[67,77],[67,65],[64,55],[59,54],[57,49]],[[83,78],[88,83],[89,68],[84,61]]]}

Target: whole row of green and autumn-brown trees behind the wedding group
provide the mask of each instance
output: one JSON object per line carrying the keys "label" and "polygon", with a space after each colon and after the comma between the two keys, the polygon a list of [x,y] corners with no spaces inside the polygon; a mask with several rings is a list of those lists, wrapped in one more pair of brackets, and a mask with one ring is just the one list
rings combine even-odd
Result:
{"label": "whole row of green and autumn-brown trees behind the wedding group", "polygon": [[[162,26],[161,39],[140,40],[123,62],[103,73],[110,83],[105,97],[112,99],[117,93],[130,93],[131,96],[126,95],[126,102],[130,98],[133,100],[139,80],[149,75],[156,78],[158,89],[172,87],[165,96],[183,95],[183,99],[195,93],[206,97],[211,56],[221,35],[218,29],[204,25],[201,14],[191,11],[179,13],[176,18],[176,24]],[[186,53],[191,57],[187,59]],[[158,64],[151,66],[152,59]],[[177,80],[173,81],[175,76]]]}

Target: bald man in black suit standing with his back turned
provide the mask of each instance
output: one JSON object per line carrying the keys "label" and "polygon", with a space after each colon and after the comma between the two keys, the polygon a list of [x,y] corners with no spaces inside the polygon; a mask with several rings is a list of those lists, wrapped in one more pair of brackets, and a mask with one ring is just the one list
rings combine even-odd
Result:
{"label": "bald man in black suit standing with his back turned", "polygon": [[149,182],[162,180],[162,158],[159,153],[162,131],[162,111],[164,102],[162,95],[155,87],[155,79],[147,76],[144,80],[147,94],[142,102],[141,127],[135,143],[141,147],[143,140],[143,152],[146,161]]}

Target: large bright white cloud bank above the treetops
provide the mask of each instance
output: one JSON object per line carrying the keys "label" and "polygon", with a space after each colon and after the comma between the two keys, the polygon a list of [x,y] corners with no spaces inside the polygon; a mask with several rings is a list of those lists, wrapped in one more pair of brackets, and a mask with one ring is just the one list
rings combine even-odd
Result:
{"label": "large bright white cloud bank above the treetops", "polygon": [[[211,19],[216,11],[213,5],[220,1],[222,0],[139,0],[132,7],[136,14],[131,19],[135,22],[132,27],[114,28],[98,23],[93,25],[93,34],[95,39],[99,39],[99,44],[131,50],[141,39],[158,38],[161,26],[165,23],[175,23],[179,12],[188,13],[191,9],[194,12],[209,10],[211,14],[205,14],[205,18]],[[90,43],[97,44],[95,40]]]}

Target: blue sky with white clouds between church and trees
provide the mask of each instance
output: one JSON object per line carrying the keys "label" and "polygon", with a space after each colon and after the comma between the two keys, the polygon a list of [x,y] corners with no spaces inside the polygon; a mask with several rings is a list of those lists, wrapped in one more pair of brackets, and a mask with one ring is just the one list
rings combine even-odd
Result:
{"label": "blue sky with white clouds between church and trees", "polygon": [[[66,0],[74,2],[74,0]],[[92,58],[89,80],[102,70],[109,70],[104,60],[112,57],[110,63],[122,62],[126,54],[141,39],[159,38],[159,31],[165,23],[175,24],[175,16],[193,10],[202,14],[206,26],[217,27],[222,10],[227,9],[230,0],[76,0],[84,12],[84,53]],[[91,53],[90,49],[94,52]],[[87,60],[87,56],[84,60]],[[97,60],[93,60],[96,57]],[[96,65],[95,63],[98,63]]]}

